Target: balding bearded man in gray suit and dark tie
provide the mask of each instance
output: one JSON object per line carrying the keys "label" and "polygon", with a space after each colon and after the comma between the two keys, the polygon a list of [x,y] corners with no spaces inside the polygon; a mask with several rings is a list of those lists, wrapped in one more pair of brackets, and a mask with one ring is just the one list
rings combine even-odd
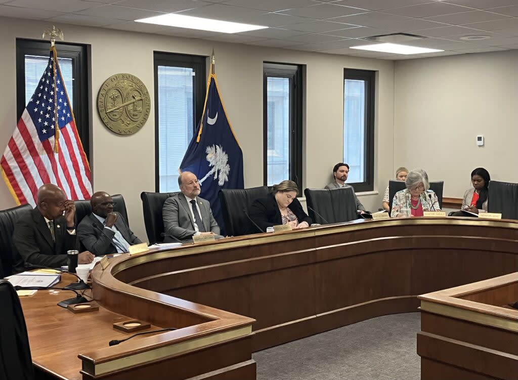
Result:
{"label": "balding bearded man in gray suit and dark tie", "polygon": [[172,235],[183,242],[192,242],[193,235],[214,234],[219,236],[220,228],[212,216],[209,201],[199,198],[198,178],[191,172],[178,176],[181,194],[168,198],[162,208],[164,218],[164,243],[174,242]]}

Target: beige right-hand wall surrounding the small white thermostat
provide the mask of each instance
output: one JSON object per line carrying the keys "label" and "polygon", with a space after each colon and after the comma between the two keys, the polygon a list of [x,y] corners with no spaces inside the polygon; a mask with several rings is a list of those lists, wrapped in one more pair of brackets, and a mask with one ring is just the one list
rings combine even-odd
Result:
{"label": "beige right-hand wall surrounding the small white thermostat", "polygon": [[423,167],[455,198],[479,166],[518,182],[517,63],[518,50],[396,62],[395,165]]}

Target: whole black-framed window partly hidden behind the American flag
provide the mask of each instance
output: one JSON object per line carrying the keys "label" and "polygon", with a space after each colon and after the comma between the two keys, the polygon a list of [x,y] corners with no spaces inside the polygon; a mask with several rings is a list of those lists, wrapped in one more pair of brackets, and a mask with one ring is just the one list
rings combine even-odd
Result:
{"label": "whole black-framed window partly hidden behind the American flag", "polygon": [[[56,43],[57,60],[74,111],[77,132],[90,158],[90,112],[88,47]],[[20,119],[49,61],[50,42],[17,38],[17,117]],[[18,121],[18,120],[17,120]]]}

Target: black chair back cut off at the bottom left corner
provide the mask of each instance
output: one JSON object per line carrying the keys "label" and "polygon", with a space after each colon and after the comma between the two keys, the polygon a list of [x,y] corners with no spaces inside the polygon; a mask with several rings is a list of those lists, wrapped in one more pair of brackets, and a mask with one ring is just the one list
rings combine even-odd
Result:
{"label": "black chair back cut off at the bottom left corner", "polygon": [[33,380],[31,348],[20,299],[4,280],[0,280],[0,305],[0,379]]}

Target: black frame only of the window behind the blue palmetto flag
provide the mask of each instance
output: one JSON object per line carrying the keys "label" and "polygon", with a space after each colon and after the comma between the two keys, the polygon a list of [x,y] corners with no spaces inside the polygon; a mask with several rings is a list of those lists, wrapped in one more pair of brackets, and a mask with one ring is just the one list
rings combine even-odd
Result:
{"label": "black frame only of the window behind the blue palmetto flag", "polygon": [[159,66],[190,67],[194,71],[194,125],[193,135],[203,114],[207,95],[207,56],[153,51],[153,77],[155,86],[155,191],[160,191],[159,159]]}

